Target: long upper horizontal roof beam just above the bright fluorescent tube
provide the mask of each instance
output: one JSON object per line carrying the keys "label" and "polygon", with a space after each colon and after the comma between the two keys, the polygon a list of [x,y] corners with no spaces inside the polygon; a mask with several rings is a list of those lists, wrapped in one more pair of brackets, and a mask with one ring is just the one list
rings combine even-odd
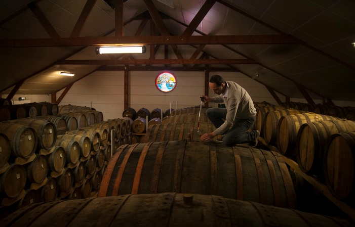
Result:
{"label": "long upper horizontal roof beam just above the bright fluorescent tube", "polygon": [[[290,35],[105,36],[72,38],[2,39],[0,47],[74,47],[120,44],[301,44]],[[174,44],[174,45],[173,45]],[[174,48],[173,48],[174,49]]]}

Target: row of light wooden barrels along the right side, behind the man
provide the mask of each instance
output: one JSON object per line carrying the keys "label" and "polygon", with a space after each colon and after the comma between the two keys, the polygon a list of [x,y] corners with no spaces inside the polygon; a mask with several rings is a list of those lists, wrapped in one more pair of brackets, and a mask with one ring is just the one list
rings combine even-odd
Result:
{"label": "row of light wooden barrels along the right side, behind the man", "polygon": [[296,159],[303,172],[322,177],[332,195],[347,202],[355,190],[354,131],[355,121],[294,109],[266,112],[263,121],[267,144]]}

